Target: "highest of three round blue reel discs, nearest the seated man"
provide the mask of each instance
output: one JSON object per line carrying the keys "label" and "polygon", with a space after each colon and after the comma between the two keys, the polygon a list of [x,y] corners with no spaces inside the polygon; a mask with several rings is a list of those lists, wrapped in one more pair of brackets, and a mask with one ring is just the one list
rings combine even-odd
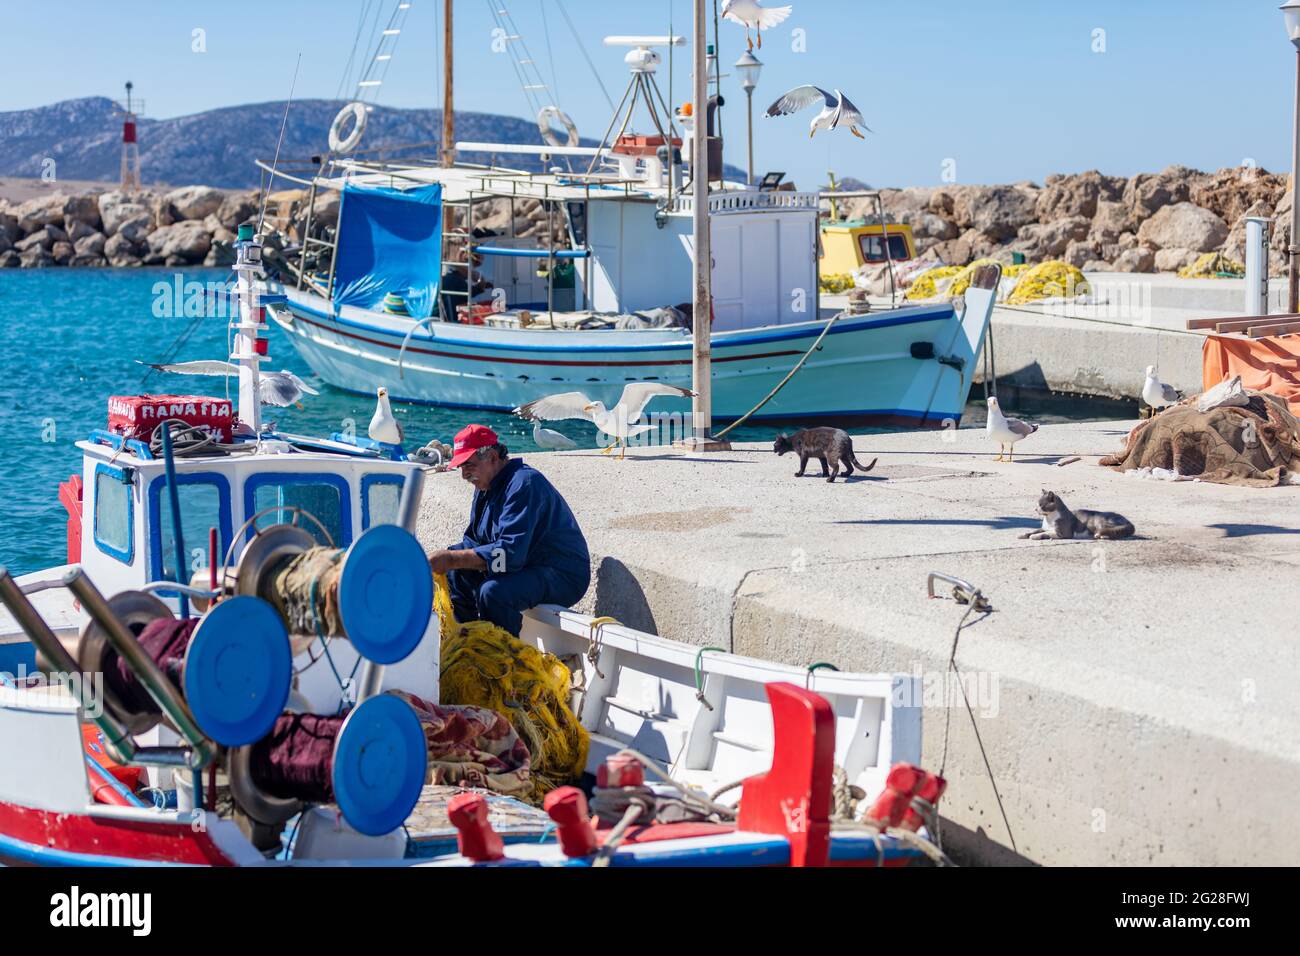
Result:
{"label": "highest of three round blue reel discs, nearest the seated man", "polygon": [[395,524],[361,535],[343,562],[338,605],[361,657],[376,663],[408,657],[433,617],[433,576],[415,536]]}

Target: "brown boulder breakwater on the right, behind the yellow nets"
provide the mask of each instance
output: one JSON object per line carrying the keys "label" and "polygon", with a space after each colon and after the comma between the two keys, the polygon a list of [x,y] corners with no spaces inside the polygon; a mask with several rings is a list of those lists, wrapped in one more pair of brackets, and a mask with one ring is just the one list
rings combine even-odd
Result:
{"label": "brown boulder breakwater on the right, behind the yellow nets", "polygon": [[[911,225],[924,258],[1062,259],[1086,272],[1174,272],[1201,252],[1245,255],[1245,219],[1273,219],[1270,272],[1286,269],[1292,194],[1286,176],[1254,166],[1202,173],[1169,166],[1131,178],[1091,170],[1039,186],[881,190],[890,220]],[[871,216],[868,200],[845,203]]]}

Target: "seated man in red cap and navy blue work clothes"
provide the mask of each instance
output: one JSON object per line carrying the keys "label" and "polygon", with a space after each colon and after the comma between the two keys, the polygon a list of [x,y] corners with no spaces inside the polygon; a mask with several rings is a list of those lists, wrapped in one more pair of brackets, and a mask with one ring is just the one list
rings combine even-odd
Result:
{"label": "seated man in red cap and navy blue work clothes", "polygon": [[446,574],[456,620],[490,620],[519,635],[540,604],[569,607],[592,583],[586,538],[555,486],[486,425],[456,433],[450,467],[474,486],[464,540],[429,555]]}

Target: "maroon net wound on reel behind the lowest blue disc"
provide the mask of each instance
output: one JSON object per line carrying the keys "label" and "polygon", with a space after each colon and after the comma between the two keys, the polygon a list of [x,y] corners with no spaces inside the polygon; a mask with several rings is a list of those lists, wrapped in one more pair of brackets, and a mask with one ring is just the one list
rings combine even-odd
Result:
{"label": "maroon net wound on reel behind the lowest blue disc", "polygon": [[248,754],[254,783],[286,800],[333,801],[334,740],[344,719],[346,715],[282,714]]}

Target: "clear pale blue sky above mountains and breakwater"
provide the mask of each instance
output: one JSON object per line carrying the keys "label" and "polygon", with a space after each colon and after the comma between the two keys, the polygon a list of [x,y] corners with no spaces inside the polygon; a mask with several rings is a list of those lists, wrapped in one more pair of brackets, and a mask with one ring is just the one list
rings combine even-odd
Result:
{"label": "clear pale blue sky above mountains and breakwater", "polygon": [[[784,169],[801,186],[824,181],[828,169],[872,185],[931,185],[948,159],[958,182],[1041,181],[1089,168],[1128,176],[1171,163],[1290,166],[1295,53],[1279,0],[792,1],[793,16],[764,34],[759,51],[766,68],[754,100],[755,164]],[[601,38],[666,33],[670,10],[673,29],[689,34],[689,0],[563,4],[615,99],[627,73],[621,51]],[[153,117],[281,99],[299,52],[296,95],[332,98],[365,5],[6,0],[0,111],[118,96],[126,78]],[[385,17],[393,5],[382,0]],[[491,51],[493,5],[498,0],[456,0],[456,107],[526,116],[506,55]],[[546,81],[554,75],[559,105],[584,135],[599,137],[610,109],[558,0],[506,5]],[[376,101],[437,105],[441,9],[442,0],[412,0]],[[792,49],[796,27],[805,52]],[[202,53],[192,51],[196,29],[205,31]],[[723,21],[723,64],[742,49],[744,30]],[[677,101],[689,82],[680,52]],[[667,70],[660,81],[667,95]],[[842,88],[875,134],[862,142],[841,130],[809,140],[810,114],[762,116],[780,92],[805,82]],[[723,92],[727,157],[744,165],[745,98],[736,77],[723,79]]]}

